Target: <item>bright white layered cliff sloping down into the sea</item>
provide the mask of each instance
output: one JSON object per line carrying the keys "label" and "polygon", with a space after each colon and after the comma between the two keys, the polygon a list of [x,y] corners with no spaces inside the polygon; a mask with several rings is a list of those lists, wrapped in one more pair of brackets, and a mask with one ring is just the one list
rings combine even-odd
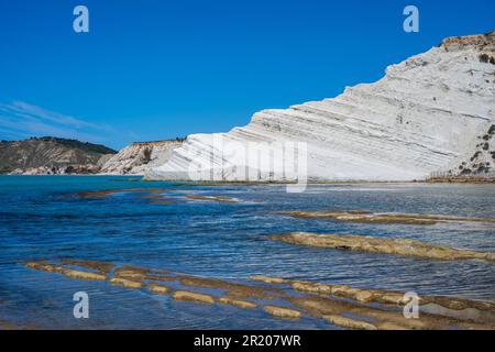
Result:
{"label": "bright white layered cliff sloping down into the sea", "polygon": [[495,123],[494,62],[495,31],[446,38],[439,47],[389,66],[381,80],[346,88],[337,98],[263,110],[228,133],[189,135],[146,177],[188,179],[191,163],[199,163],[222,179],[239,179],[231,166],[246,163],[239,155],[222,155],[215,145],[221,140],[305,142],[309,179],[424,178],[469,160],[479,136]]}

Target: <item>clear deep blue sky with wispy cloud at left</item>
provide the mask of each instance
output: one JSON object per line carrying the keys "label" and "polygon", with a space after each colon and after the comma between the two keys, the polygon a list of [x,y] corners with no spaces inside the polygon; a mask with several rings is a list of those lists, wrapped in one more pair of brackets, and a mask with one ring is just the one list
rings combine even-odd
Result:
{"label": "clear deep blue sky with wispy cloud at left", "polygon": [[[78,4],[89,33],[73,31]],[[403,31],[407,4],[419,33]],[[374,81],[494,19],[493,0],[0,0],[0,139],[119,148],[223,132],[261,109]]]}

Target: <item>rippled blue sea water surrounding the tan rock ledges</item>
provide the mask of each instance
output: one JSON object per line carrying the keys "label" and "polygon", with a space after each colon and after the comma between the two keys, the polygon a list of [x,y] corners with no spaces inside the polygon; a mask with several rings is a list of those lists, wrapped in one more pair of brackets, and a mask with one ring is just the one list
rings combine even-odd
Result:
{"label": "rippled blue sea water surrounding the tan rock ledges", "polygon": [[[179,200],[153,205],[138,193],[82,198],[97,189],[165,188]],[[187,199],[228,196],[239,204]],[[0,321],[34,328],[333,329],[324,321],[278,320],[261,309],[174,301],[145,289],[84,282],[24,267],[29,260],[87,258],[248,282],[250,275],[495,299],[495,266],[294,246],[267,239],[288,231],[409,238],[495,251],[495,227],[345,223],[296,219],[283,210],[369,210],[495,218],[495,185],[194,186],[113,176],[0,177]],[[73,295],[87,292],[90,319],[73,317]]]}

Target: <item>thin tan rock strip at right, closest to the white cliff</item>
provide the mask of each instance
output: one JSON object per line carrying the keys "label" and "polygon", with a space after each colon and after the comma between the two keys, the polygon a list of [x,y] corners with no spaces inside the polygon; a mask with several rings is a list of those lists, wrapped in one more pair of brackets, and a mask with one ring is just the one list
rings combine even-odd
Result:
{"label": "thin tan rock strip at right, closest to the white cliff", "polygon": [[436,224],[444,221],[495,222],[494,218],[469,218],[420,213],[373,213],[367,211],[282,211],[282,215],[302,219],[333,219],[362,223]]}

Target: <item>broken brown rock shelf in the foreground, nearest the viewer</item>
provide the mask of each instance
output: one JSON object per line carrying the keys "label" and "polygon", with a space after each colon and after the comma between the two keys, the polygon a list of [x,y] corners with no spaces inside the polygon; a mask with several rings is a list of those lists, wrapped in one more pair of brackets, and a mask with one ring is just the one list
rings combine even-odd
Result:
{"label": "broken brown rock shelf in the foreground, nearest the viewer", "polygon": [[[66,260],[64,263],[29,262],[26,267],[58,273],[75,279],[99,280],[103,276],[103,279],[122,286],[122,289],[146,287],[151,294],[170,295],[177,301],[230,305],[241,309],[260,308],[274,318],[311,317],[346,329],[495,329],[495,302],[490,301],[425,296],[420,298],[420,318],[406,319],[400,306],[407,300],[404,294],[398,292],[264,275],[250,277],[252,280],[263,282],[262,285],[250,285],[163,270],[118,266],[98,261]],[[161,282],[169,284],[164,286]],[[177,285],[182,287],[177,288]],[[220,293],[195,292],[190,290],[191,287]],[[266,300],[274,304],[267,304]]]}

